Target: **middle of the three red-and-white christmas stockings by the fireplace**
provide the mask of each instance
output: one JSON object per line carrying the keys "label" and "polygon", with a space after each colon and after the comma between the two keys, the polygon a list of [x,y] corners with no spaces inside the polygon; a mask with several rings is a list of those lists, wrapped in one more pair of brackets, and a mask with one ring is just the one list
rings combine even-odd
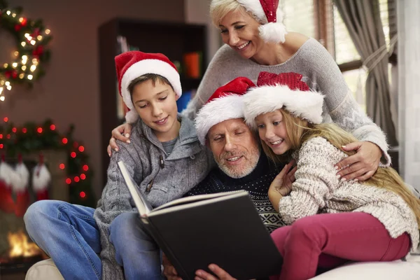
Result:
{"label": "middle of the three red-and-white christmas stockings by the fireplace", "polygon": [[18,156],[18,165],[15,168],[15,179],[12,179],[13,191],[16,194],[15,214],[18,217],[25,215],[29,206],[29,171],[22,161],[22,155]]}

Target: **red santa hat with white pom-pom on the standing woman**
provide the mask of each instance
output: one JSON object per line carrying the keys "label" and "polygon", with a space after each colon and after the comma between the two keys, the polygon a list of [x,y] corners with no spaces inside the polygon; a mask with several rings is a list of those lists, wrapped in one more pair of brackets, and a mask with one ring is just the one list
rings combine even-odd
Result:
{"label": "red santa hat with white pom-pom on the standing woman", "polygon": [[255,15],[262,25],[260,36],[266,42],[284,43],[287,34],[283,25],[283,12],[279,0],[237,0],[248,12]]}

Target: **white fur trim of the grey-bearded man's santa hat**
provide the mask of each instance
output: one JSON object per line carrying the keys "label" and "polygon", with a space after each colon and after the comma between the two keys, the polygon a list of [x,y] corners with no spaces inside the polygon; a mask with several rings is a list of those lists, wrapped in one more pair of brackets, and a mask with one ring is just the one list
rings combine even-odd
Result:
{"label": "white fur trim of the grey-bearded man's santa hat", "polygon": [[202,145],[206,144],[207,132],[218,123],[234,118],[244,118],[243,95],[230,94],[216,98],[205,104],[195,118],[195,130],[198,140]]}

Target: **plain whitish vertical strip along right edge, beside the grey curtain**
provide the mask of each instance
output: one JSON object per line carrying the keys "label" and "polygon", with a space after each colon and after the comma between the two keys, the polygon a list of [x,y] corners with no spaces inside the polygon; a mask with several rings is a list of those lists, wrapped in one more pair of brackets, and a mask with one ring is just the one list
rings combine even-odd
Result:
{"label": "plain whitish vertical strip along right edge, beside the grey curtain", "polygon": [[420,1],[398,1],[400,173],[420,190]]}

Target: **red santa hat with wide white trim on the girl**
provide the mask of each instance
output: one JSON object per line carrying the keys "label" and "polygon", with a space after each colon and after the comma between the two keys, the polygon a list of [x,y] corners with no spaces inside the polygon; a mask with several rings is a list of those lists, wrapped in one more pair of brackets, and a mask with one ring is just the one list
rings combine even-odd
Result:
{"label": "red santa hat with wide white trim on the girl", "polygon": [[256,129],[255,118],[276,109],[285,109],[310,123],[322,123],[323,95],[311,91],[301,79],[299,73],[261,72],[257,87],[244,96],[246,124]]}

